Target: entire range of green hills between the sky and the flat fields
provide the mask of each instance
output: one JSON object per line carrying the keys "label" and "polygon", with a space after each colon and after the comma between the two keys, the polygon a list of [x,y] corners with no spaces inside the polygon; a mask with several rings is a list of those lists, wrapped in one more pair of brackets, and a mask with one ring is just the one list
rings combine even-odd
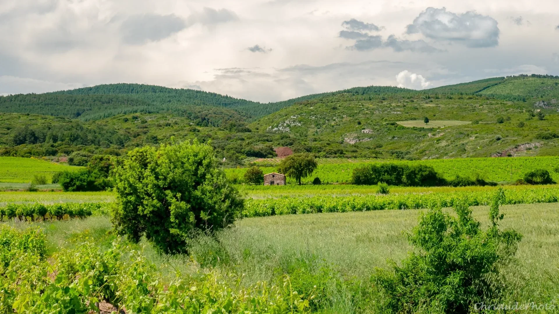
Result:
{"label": "entire range of green hills between the sky and the flat fields", "polygon": [[124,153],[174,138],[211,142],[232,164],[271,157],[278,146],[326,158],[555,155],[558,85],[559,77],[521,75],[268,104],[141,84],[14,95],[0,97],[0,154]]}

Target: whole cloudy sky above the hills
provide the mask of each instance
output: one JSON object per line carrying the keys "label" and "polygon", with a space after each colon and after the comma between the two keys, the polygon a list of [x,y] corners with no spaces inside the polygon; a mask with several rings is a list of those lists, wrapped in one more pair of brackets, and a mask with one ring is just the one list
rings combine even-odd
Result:
{"label": "whole cloudy sky above the hills", "polygon": [[259,102],[559,75],[559,2],[1,0],[0,95],[109,83]]}

